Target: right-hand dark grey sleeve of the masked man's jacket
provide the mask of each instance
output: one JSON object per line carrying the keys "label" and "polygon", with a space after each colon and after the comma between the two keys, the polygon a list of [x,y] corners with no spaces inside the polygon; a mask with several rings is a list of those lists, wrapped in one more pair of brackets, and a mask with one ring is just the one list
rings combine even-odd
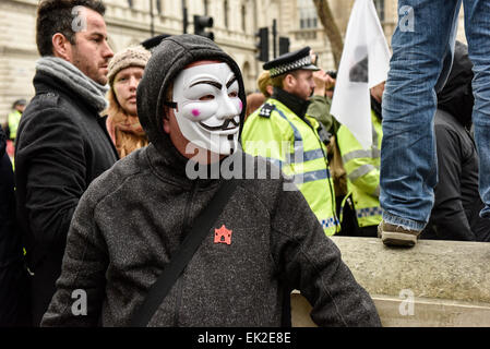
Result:
{"label": "right-hand dark grey sleeve of the masked man's jacket", "polygon": [[282,191],[272,218],[273,256],[285,282],[313,306],[319,326],[380,326],[369,293],[342,261],[299,191]]}

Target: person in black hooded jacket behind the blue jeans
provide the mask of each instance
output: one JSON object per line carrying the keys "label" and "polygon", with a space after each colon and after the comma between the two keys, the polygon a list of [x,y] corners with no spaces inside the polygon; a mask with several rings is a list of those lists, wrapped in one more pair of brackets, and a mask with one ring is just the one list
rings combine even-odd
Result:
{"label": "person in black hooded jacket behind the blue jeans", "polygon": [[490,220],[479,216],[483,203],[478,194],[478,154],[469,132],[475,103],[471,68],[467,47],[456,41],[450,77],[438,94],[434,130],[439,182],[431,217],[421,234],[425,239],[490,241]]}

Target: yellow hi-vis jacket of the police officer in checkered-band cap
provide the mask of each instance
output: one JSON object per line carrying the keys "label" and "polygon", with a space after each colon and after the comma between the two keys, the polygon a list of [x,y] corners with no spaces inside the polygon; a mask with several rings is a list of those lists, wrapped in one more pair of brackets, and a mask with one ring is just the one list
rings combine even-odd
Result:
{"label": "yellow hi-vis jacket of the police officer in checkered-band cap", "polygon": [[335,214],[334,184],[326,159],[326,146],[318,134],[319,123],[301,120],[277,99],[270,98],[247,119],[241,142],[243,151],[278,166],[295,184],[316,215],[325,234],[340,225]]}

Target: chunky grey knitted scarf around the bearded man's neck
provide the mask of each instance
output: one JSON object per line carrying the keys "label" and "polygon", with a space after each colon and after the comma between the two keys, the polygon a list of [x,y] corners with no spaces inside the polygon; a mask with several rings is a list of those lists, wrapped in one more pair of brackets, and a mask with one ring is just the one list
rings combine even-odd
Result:
{"label": "chunky grey knitted scarf around the bearded man's neck", "polygon": [[106,94],[109,87],[97,84],[69,61],[58,57],[43,57],[36,62],[36,70],[61,80],[98,112],[107,108]]}

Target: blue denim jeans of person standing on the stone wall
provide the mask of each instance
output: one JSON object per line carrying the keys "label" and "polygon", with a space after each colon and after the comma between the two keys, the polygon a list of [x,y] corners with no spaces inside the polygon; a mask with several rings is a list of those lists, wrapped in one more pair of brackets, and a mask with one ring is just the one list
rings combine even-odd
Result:
{"label": "blue denim jeans of person standing on the stone wall", "polygon": [[451,71],[462,1],[475,72],[473,120],[486,204],[480,215],[490,217],[490,1],[399,0],[382,103],[380,203],[384,221],[408,229],[423,229],[434,203],[435,92]]}

